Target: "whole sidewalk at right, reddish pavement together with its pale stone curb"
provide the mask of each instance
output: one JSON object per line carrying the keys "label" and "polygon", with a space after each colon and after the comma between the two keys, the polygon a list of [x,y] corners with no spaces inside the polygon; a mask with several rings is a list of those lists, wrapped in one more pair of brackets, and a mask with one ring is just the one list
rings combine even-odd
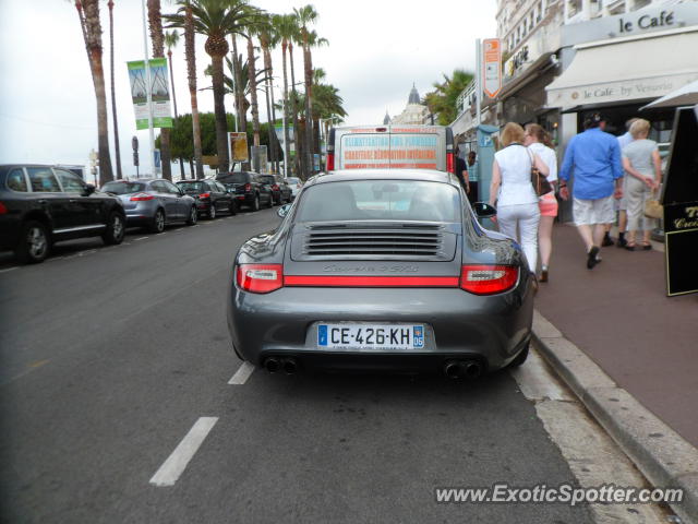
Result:
{"label": "whole sidewalk at right, reddish pavement together with its pale stone curb", "polygon": [[667,298],[664,253],[602,248],[586,267],[575,227],[556,225],[534,338],[653,486],[685,490],[698,515],[698,295]]}

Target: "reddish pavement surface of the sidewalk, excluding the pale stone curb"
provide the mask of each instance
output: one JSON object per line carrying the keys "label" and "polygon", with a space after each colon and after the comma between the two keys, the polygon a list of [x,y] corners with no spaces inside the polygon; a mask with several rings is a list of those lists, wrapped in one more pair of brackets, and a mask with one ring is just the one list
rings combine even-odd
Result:
{"label": "reddish pavement surface of the sidewalk, excluding the pale stone curb", "polygon": [[576,228],[556,225],[535,309],[698,448],[698,295],[665,296],[662,252],[613,246],[601,258],[587,270]]}

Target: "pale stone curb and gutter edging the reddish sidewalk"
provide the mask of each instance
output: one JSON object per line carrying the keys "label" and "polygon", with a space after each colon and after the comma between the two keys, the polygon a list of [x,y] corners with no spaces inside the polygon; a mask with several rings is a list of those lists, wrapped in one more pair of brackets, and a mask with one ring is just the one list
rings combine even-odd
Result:
{"label": "pale stone curb and gutter edging the reddish sidewalk", "polygon": [[683,502],[670,505],[684,523],[698,524],[698,450],[619,388],[538,310],[533,340],[540,354],[652,486],[684,490]]}

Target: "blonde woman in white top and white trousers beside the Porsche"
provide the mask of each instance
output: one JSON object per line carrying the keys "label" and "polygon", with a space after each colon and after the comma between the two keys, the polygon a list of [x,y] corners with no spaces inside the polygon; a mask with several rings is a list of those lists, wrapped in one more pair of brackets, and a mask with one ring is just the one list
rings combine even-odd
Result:
{"label": "blonde woman in white top and white trousers beside the Porsche", "polygon": [[490,204],[494,205],[497,200],[500,231],[519,241],[529,270],[535,273],[541,212],[531,183],[531,167],[535,165],[544,176],[549,175],[549,169],[535,153],[524,145],[524,128],[518,123],[509,122],[504,127],[500,136],[504,147],[494,154]]}

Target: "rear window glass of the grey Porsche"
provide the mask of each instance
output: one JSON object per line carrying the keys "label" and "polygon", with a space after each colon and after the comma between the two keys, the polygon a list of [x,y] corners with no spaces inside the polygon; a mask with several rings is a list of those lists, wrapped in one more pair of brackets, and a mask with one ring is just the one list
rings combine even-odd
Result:
{"label": "rear window glass of the grey Porsche", "polygon": [[308,188],[298,222],[460,219],[460,198],[446,183],[414,180],[356,180]]}

